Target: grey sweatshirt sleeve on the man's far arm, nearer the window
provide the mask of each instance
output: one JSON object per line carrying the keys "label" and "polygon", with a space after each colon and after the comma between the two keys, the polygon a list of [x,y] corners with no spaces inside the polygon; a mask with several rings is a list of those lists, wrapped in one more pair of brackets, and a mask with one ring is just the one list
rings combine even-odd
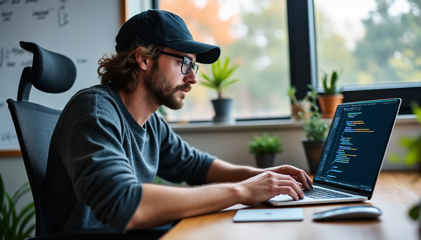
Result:
{"label": "grey sweatshirt sleeve on the man's far arm, nearer the window", "polygon": [[210,165],[217,157],[191,147],[165,121],[155,117],[160,135],[157,175],[171,182],[186,181],[189,185],[205,184]]}

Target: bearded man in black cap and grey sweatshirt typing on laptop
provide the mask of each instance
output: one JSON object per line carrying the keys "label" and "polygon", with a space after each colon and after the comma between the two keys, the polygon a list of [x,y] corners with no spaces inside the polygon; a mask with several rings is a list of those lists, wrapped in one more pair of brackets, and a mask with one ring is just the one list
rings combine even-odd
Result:
{"label": "bearded man in black cap and grey sweatshirt typing on laptop", "polygon": [[[195,42],[173,13],[134,16],[116,37],[115,55],[99,61],[102,85],[77,92],[51,139],[46,183],[48,232],[114,227],[142,229],[279,194],[304,198],[312,187],[293,166],[235,166],[190,147],[155,111],[179,109],[198,63],[213,63],[219,47]],[[152,184],[158,175],[198,187]],[[216,183],[204,185],[206,183]],[[48,203],[47,203],[48,204]]]}

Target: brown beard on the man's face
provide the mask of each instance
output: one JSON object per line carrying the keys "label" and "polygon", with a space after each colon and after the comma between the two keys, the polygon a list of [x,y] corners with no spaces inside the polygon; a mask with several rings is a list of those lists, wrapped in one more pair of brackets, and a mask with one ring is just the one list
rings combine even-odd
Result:
{"label": "brown beard on the man's face", "polygon": [[145,78],[145,86],[148,94],[144,96],[147,102],[154,102],[160,105],[165,105],[167,108],[179,110],[184,105],[184,98],[187,95],[182,95],[181,100],[177,100],[176,93],[180,90],[191,90],[192,86],[186,83],[173,87],[171,79],[168,79],[159,71],[159,66],[152,66],[151,73]]}

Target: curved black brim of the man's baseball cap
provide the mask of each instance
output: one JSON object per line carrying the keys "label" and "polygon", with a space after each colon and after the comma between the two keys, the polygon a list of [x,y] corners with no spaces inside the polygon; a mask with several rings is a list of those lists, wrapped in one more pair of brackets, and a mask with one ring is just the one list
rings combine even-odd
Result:
{"label": "curved black brim of the man's baseball cap", "polygon": [[218,60],[219,55],[221,55],[221,48],[218,46],[190,39],[163,42],[163,45],[183,53],[195,53],[197,63],[214,63]]}

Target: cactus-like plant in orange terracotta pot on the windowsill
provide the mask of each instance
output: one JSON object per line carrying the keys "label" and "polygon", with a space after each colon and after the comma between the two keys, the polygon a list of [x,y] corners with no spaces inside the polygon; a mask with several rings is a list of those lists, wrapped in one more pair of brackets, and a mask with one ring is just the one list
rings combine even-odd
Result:
{"label": "cactus-like plant in orange terracotta pot on the windowsill", "polygon": [[328,74],[324,74],[322,77],[323,88],[325,89],[324,95],[320,95],[318,100],[320,108],[322,110],[322,118],[332,118],[335,116],[336,108],[338,104],[342,103],[344,100],[344,95],[342,95],[342,90],[336,87],[336,82],[338,81],[339,74],[337,71],[332,72],[330,77],[330,86],[328,87]]}

